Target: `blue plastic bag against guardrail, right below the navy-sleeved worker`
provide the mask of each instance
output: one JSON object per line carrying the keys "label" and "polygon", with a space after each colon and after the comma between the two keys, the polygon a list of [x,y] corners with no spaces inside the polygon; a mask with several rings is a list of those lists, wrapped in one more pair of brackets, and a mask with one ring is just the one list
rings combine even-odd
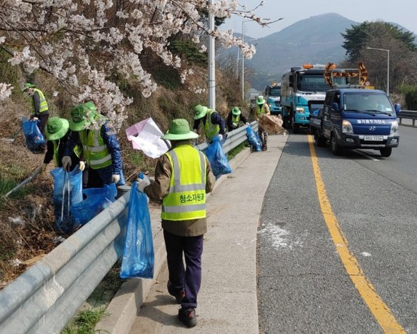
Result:
{"label": "blue plastic bag against guardrail, right below the navy-sleeved worker", "polygon": [[87,188],[83,190],[83,200],[71,206],[74,228],[90,222],[101,211],[113,203],[117,196],[115,183],[104,185],[102,188]]}

